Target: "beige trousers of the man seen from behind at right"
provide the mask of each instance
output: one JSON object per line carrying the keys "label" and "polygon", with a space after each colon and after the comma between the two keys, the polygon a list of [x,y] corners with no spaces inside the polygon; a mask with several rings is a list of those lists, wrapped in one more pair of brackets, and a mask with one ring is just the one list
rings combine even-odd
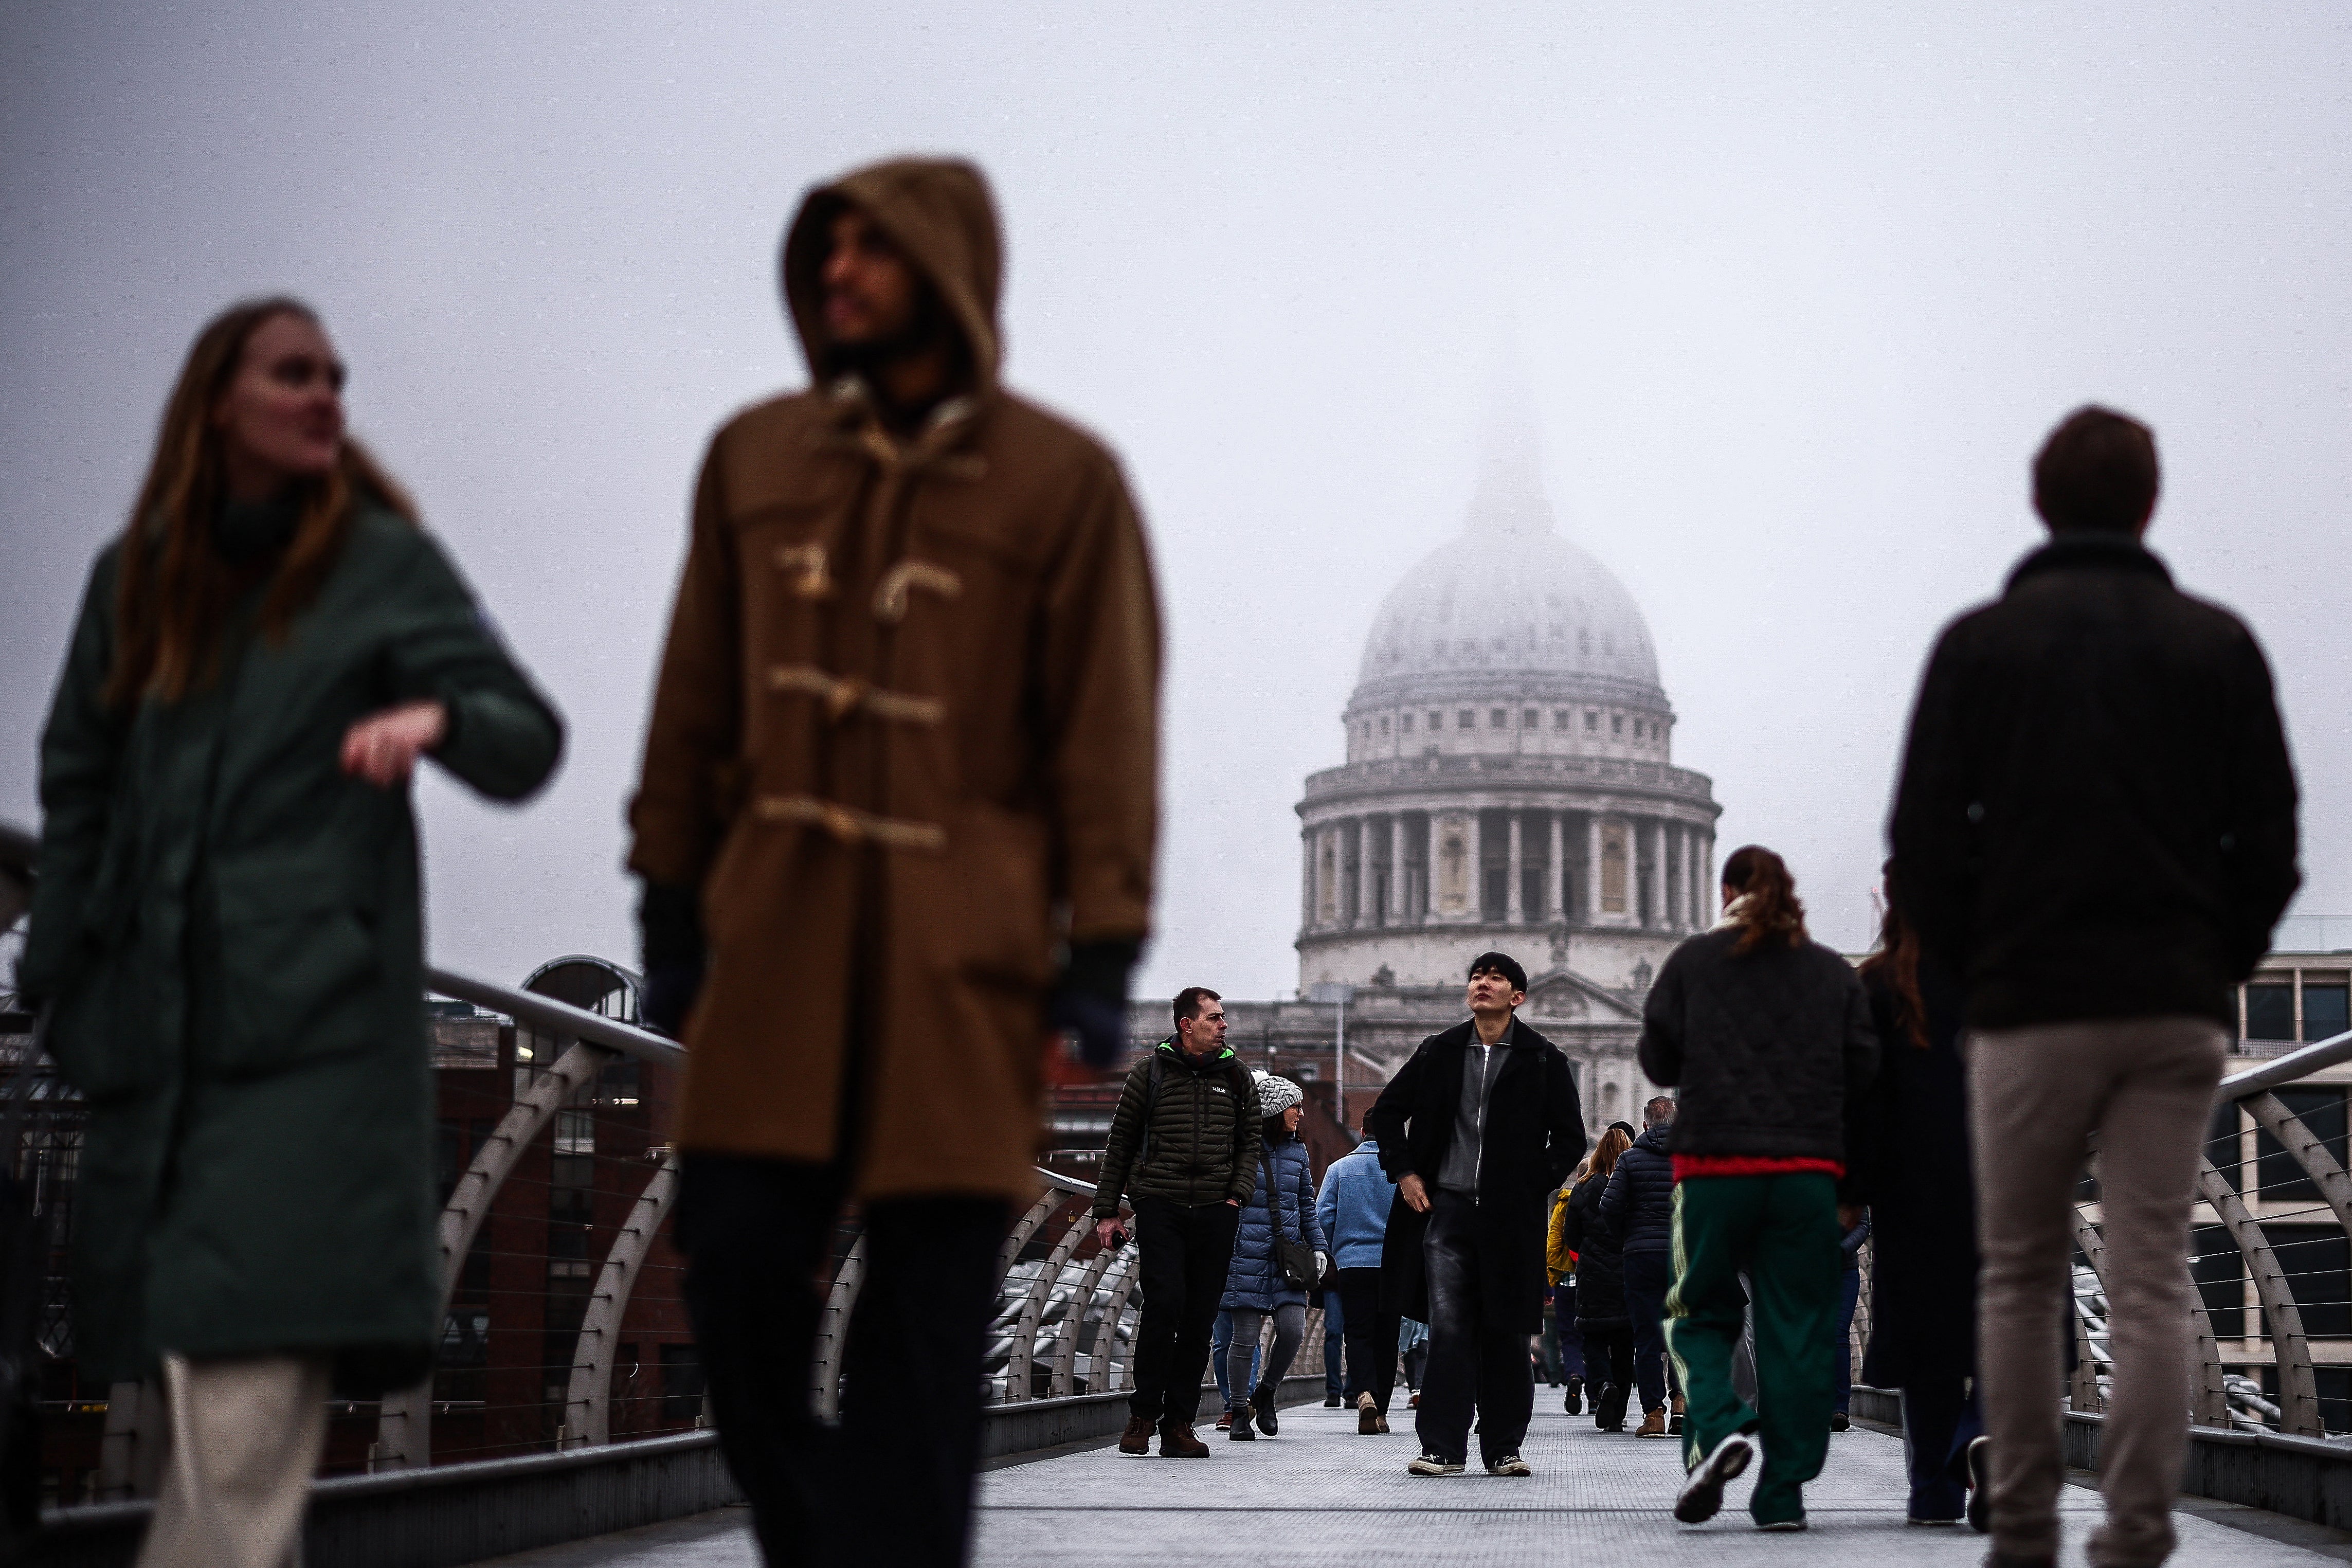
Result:
{"label": "beige trousers of the man seen from behind at right", "polygon": [[2190,1427],[2190,1208],[2230,1039],[2209,1018],[1973,1030],[1978,1408],[1992,1439],[1992,1544],[2058,1552],[2060,1385],[2074,1182],[2098,1133],[2114,1389],[2100,1432],[2107,1523],[2093,1568],[2161,1563]]}

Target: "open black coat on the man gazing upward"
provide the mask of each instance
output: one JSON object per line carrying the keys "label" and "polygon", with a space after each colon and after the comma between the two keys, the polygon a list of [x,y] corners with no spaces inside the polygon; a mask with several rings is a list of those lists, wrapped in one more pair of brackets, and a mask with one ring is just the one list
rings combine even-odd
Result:
{"label": "open black coat on the man gazing upward", "polygon": [[[1463,1060],[1475,1039],[1472,1023],[1430,1034],[1411,1060],[1397,1067],[1374,1103],[1367,1124],[1381,1145],[1388,1180],[1418,1175],[1435,1187],[1454,1145],[1454,1112],[1461,1107]],[[1526,1333],[1543,1331],[1543,1220],[1545,1197],[1576,1171],[1585,1152],[1585,1112],[1576,1098],[1576,1072],[1559,1046],[1526,1023],[1512,1030],[1510,1056],[1486,1100],[1479,1157],[1479,1291],[1489,1302],[1524,1305]],[[1414,1213],[1399,1192],[1388,1208],[1381,1244],[1381,1309],[1430,1319],[1421,1241],[1428,1215]]]}

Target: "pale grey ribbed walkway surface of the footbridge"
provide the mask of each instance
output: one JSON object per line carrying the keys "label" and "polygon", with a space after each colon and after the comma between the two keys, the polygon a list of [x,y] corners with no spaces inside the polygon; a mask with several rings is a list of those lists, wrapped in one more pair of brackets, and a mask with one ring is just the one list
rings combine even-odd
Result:
{"label": "pale grey ribbed walkway surface of the footbridge", "polygon": [[[1933,1563],[1976,1568],[1985,1537],[1959,1528],[1903,1523],[1903,1443],[1856,1427],[1830,1446],[1828,1472],[1806,1488],[1811,1530],[1762,1535],[1748,1521],[1748,1481],[1724,1512],[1696,1530],[1668,1516],[1682,1465],[1677,1443],[1592,1429],[1538,1389],[1526,1460],[1534,1479],[1482,1472],[1425,1481],[1404,1474],[1416,1453],[1406,1425],[1390,1436],[1357,1436],[1355,1415],[1296,1406],[1282,1436],[1214,1439],[1209,1460],[1134,1460],[1091,1448],[1030,1460],[981,1479],[976,1561],[988,1568],[1200,1568],[1279,1563],[1282,1568],[1745,1568],[1788,1563]],[[1550,1410],[1543,1408],[1550,1403]],[[1204,1403],[1207,1410],[1207,1403]],[[1750,1472],[1752,1476],[1755,1472]],[[2324,1568],[2352,1552],[2305,1549],[2279,1533],[2314,1533],[2272,1514],[2192,1505],[2180,1514],[2171,1568]],[[2098,1495],[2063,1493],[2067,1552],[2096,1523]],[[2284,1530],[2279,1528],[2284,1526]],[[2338,1537],[2340,1540],[2340,1537]],[[499,1559],[499,1568],[755,1568],[741,1509],[649,1526],[597,1542]]]}

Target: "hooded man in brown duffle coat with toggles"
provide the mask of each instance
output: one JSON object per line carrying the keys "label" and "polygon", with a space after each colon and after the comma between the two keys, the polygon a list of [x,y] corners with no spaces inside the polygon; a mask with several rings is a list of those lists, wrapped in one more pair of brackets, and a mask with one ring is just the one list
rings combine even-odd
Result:
{"label": "hooded man in brown duffle coat with toggles", "polygon": [[[1000,275],[967,162],[807,195],[814,386],[710,442],[630,806],[647,1016],[687,1044],[687,1302],[769,1563],[962,1561],[1047,1030],[1120,1048],[1148,922],[1150,557],[1117,461],[997,383]],[[811,1279],[844,1204],[835,1432]]]}

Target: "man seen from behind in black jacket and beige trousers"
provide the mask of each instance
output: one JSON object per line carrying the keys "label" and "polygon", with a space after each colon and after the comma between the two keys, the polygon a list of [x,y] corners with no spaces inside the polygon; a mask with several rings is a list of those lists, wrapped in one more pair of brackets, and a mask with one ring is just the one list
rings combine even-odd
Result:
{"label": "man seen from behind in black jacket and beige trousers", "polygon": [[2051,1389],[2093,1131],[2117,1373],[2091,1561],[2173,1547],[2197,1147],[2232,987],[2298,882],[2270,665],[2140,545],[2154,505],[2145,425],[2079,409],[2051,433],[2051,543],[1936,644],[1891,825],[1903,912],[1969,994],[1992,1537],[2020,1566],[2058,1549]]}

